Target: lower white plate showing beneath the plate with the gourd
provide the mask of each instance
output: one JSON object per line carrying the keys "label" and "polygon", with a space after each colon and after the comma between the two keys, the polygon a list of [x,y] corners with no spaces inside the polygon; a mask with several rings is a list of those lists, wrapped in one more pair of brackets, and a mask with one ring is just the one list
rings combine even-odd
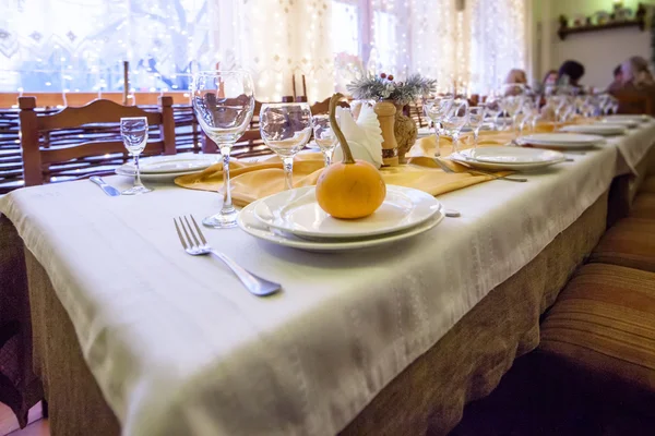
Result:
{"label": "lower white plate showing beneath the plate with the gourd", "polygon": [[[261,202],[261,199],[258,202]],[[254,215],[254,208],[258,206],[258,202],[251,203],[239,213],[237,223],[239,225],[241,230],[263,241],[309,252],[348,252],[353,250],[371,249],[374,246],[403,241],[432,229],[434,226],[439,225],[444,217],[443,211],[439,210],[432,219],[429,219],[422,222],[421,225],[413,227],[408,230],[400,231],[396,233],[389,233],[381,237],[378,235],[369,239],[355,240],[349,239],[346,241],[312,241],[285,233],[277,229],[271,229],[264,223],[262,223],[262,221],[260,221]]]}

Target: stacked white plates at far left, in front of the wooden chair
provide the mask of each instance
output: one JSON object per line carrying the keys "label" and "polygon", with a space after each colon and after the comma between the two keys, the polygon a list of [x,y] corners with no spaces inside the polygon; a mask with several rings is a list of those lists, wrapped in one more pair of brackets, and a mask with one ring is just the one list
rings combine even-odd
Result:
{"label": "stacked white plates at far left, in front of the wooden chair", "polygon": [[[192,154],[148,157],[139,162],[141,178],[151,181],[166,181],[178,175],[192,174],[209,168],[216,162],[218,157]],[[119,175],[134,177],[134,172],[135,168],[132,162],[116,169],[116,173]]]}

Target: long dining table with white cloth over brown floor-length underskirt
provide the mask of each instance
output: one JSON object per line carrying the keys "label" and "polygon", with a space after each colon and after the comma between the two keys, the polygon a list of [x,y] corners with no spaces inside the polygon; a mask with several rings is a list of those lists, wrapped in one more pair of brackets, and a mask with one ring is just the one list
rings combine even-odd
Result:
{"label": "long dining table with white cloth over brown floor-length underskirt", "polygon": [[25,247],[51,434],[445,434],[537,347],[539,315],[605,231],[612,180],[640,173],[654,142],[650,120],[526,183],[440,195],[460,218],[376,250],[309,253],[205,229],[283,284],[265,299],[181,249],[172,218],[215,213],[217,193],[14,191],[0,211]]}

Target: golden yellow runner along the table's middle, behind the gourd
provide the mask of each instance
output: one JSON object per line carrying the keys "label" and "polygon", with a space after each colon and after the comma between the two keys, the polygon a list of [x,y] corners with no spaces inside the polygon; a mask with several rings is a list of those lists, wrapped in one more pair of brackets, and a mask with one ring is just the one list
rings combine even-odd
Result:
{"label": "golden yellow runner along the table's middle, behind the gourd", "polygon": [[[546,128],[551,131],[551,128]],[[539,130],[539,129],[538,129]],[[544,129],[541,129],[544,131]],[[514,138],[515,132],[483,132],[479,146],[503,145]],[[450,142],[449,138],[441,141]],[[432,195],[439,195],[492,178],[471,174],[467,169],[450,160],[443,160],[455,173],[444,172],[434,162],[436,141],[433,136],[417,141],[408,154],[407,165],[385,167],[380,170],[384,182],[400,186],[415,187]],[[471,148],[471,135],[461,140],[461,148]],[[320,153],[298,154],[294,160],[294,186],[308,186],[317,183],[324,160]],[[246,162],[234,159],[230,162],[233,202],[246,206],[255,199],[284,191],[284,170],[276,156],[259,162]],[[200,173],[180,175],[175,183],[182,187],[203,191],[217,191],[223,185],[223,165],[216,164]]]}

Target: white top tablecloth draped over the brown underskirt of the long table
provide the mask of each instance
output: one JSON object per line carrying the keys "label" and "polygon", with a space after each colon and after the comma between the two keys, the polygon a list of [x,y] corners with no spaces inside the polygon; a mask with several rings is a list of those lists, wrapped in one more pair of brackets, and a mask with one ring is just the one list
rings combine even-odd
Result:
{"label": "white top tablecloth draped over the brown underskirt of the long table", "polygon": [[442,195],[461,218],[374,251],[312,254],[205,230],[284,284],[269,299],[181,250],[172,217],[215,213],[215,193],[157,185],[108,197],[80,181],[19,190],[0,210],[50,276],[126,435],[329,435],[608,189],[617,144],[650,145],[654,133],[655,123],[527,183]]}

